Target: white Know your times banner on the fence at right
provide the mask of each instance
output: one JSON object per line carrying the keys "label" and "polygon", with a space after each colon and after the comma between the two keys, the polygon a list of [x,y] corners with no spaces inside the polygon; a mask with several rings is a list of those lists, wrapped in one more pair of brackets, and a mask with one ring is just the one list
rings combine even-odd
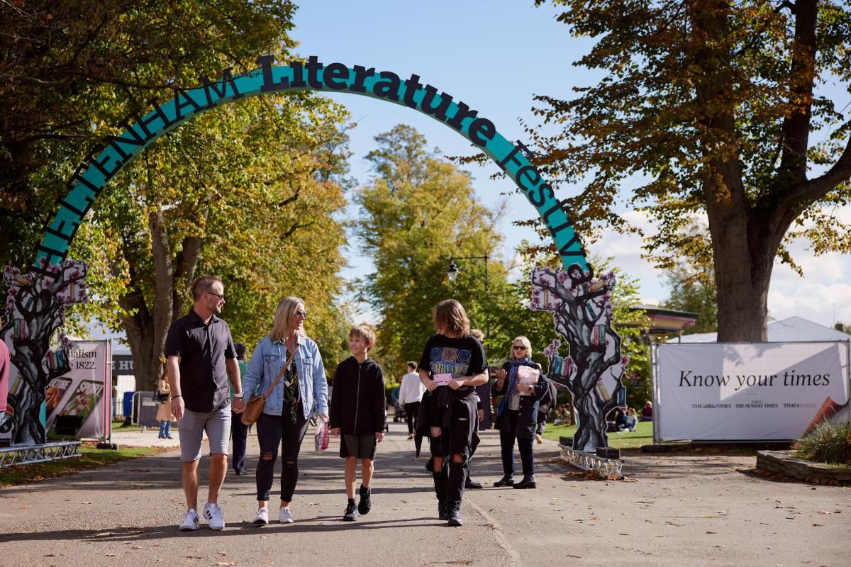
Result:
{"label": "white Know your times banner on the fence at right", "polygon": [[656,349],[658,440],[799,439],[848,405],[847,343]]}

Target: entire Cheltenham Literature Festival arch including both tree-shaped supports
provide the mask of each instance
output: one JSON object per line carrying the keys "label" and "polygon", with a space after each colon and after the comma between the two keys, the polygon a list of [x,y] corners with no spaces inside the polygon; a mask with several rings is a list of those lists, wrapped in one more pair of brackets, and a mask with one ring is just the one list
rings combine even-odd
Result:
{"label": "entire Cheltenham Literature Festival arch including both tree-shaped supports", "polygon": [[[3,424],[3,428],[13,428],[13,443],[37,445],[44,441],[43,428],[39,429],[32,421],[37,420],[47,379],[64,371],[62,357],[49,348],[50,337],[61,325],[64,306],[86,300],[86,266],[67,258],[68,250],[86,214],[111,179],[155,140],[204,111],[263,94],[320,91],[383,99],[431,116],[470,140],[517,184],[549,230],[564,268],[545,277],[540,274],[533,277],[532,309],[553,312],[556,331],[570,349],[568,357],[563,359],[557,356],[557,346],[551,348],[548,373],[568,386],[574,396],[580,417],[574,446],[586,451],[606,446],[605,414],[614,403],[614,394],[622,388],[623,370],[622,365],[613,362],[620,360],[620,338],[612,329],[611,304],[605,295],[614,279],[592,281],[593,269],[565,203],[556,198],[551,184],[532,165],[530,152],[523,143],[512,144],[496,130],[493,122],[478,116],[478,111],[470,105],[454,100],[446,92],[438,92],[431,84],[423,84],[417,75],[403,79],[392,71],[376,71],[362,65],[326,65],[315,56],[288,65],[275,65],[271,55],[260,56],[256,61],[260,66],[254,71],[233,75],[226,69],[214,81],[203,78],[200,87],[174,88],[173,98],[161,104],[151,102],[152,110],[145,116],[125,118],[121,122],[123,131],[102,139],[71,175],[68,192],[45,227],[31,268],[24,272],[8,267],[4,270],[9,298],[7,323],[0,330],[0,338],[10,345],[14,364],[28,388],[26,395],[13,394],[18,415]],[[543,303],[541,297],[545,299]],[[548,303],[549,298],[555,298],[555,303]],[[566,319],[577,314],[580,319],[567,324]],[[610,343],[609,338],[616,340]],[[614,353],[607,345],[614,348]],[[568,364],[564,363],[566,360]],[[570,361],[574,362],[573,375],[564,372],[571,368]],[[604,394],[601,398],[599,392],[606,389],[595,386],[602,384],[604,371],[617,374],[617,383],[614,390],[608,389],[614,392],[612,396]],[[14,434],[15,427],[25,425],[26,434]]]}

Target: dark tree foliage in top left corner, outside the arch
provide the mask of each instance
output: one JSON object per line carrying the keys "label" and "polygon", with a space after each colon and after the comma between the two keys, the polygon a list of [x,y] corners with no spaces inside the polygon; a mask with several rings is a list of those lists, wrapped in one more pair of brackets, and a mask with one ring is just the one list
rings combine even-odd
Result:
{"label": "dark tree foliage in top left corner, outside the arch", "polygon": [[290,0],[0,2],[0,265],[31,263],[71,170],[117,124],[223,67],[285,54]]}

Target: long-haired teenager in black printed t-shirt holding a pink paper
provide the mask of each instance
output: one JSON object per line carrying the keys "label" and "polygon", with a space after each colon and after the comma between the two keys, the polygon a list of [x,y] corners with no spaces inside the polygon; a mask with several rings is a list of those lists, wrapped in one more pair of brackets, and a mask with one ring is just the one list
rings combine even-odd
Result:
{"label": "long-haired teenager in black printed t-shirt holding a pink paper", "polygon": [[428,339],[420,358],[420,381],[427,391],[417,428],[431,439],[426,466],[434,479],[438,518],[457,526],[463,525],[467,460],[478,445],[475,387],[488,381],[488,360],[482,343],[470,335],[470,320],[460,303],[437,303],[431,315],[437,335]]}

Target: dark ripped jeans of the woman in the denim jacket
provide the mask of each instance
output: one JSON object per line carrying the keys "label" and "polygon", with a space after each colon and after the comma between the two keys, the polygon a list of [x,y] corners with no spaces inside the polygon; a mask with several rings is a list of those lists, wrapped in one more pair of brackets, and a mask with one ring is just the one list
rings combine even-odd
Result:
{"label": "dark ripped jeans of the woman in the denim jacket", "polygon": [[275,479],[277,449],[281,447],[281,500],[292,502],[295,484],[299,481],[299,451],[301,440],[307,433],[307,418],[299,407],[295,423],[289,421],[289,410],[283,408],[283,417],[260,414],[257,420],[257,440],[260,443],[260,461],[257,462],[257,500],[266,502]]}

